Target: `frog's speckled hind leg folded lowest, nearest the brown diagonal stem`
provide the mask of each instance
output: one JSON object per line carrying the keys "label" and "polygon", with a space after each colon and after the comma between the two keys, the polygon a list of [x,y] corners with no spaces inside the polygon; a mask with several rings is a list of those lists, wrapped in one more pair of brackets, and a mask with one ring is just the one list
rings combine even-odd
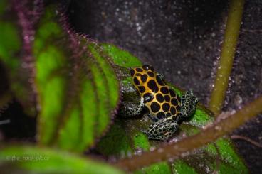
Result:
{"label": "frog's speckled hind leg folded lowest, nearest the brown diagonal stem", "polygon": [[164,141],[170,138],[174,132],[177,131],[177,128],[177,121],[173,121],[172,119],[160,119],[151,124],[149,129],[144,131],[144,133],[147,134],[150,139]]}

